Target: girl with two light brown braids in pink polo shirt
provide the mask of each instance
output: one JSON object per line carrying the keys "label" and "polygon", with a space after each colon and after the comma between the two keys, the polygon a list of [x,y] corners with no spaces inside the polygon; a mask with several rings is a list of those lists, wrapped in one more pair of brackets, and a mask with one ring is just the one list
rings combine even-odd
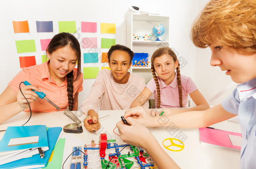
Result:
{"label": "girl with two light brown braids in pink polo shirt", "polygon": [[156,108],[186,107],[188,94],[196,104],[196,107],[188,109],[165,109],[165,114],[209,108],[209,104],[191,78],[180,75],[180,63],[171,48],[162,47],[157,49],[152,55],[151,63],[153,78],[133,101],[132,108],[141,106],[152,93],[154,94]]}

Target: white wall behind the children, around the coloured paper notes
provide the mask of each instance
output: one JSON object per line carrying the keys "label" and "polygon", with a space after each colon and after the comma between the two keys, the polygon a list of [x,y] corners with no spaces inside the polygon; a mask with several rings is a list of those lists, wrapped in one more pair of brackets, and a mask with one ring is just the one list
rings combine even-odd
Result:
{"label": "white wall behind the children, around the coloured paper notes", "polygon": [[[42,3],[43,2],[43,3]],[[19,56],[35,55],[37,64],[41,63],[40,39],[52,38],[58,33],[57,21],[76,21],[78,33],[74,34],[81,42],[81,38],[97,37],[100,48],[100,38],[116,38],[116,44],[126,45],[126,18],[130,14],[129,6],[138,6],[141,10],[170,16],[170,47],[184,58],[181,73],[190,76],[201,93],[209,100],[218,90],[231,80],[219,68],[209,66],[209,49],[194,47],[189,38],[191,24],[198,15],[205,0],[163,0],[158,5],[155,0],[6,0],[0,5],[0,93],[4,91],[8,82],[21,70]],[[29,22],[29,33],[13,33],[12,20]],[[53,21],[53,33],[37,33],[36,20]],[[97,33],[81,33],[81,21],[97,22]],[[100,34],[100,23],[115,23],[116,34]],[[17,53],[15,40],[34,39],[37,52]],[[87,49],[88,50],[88,49]],[[102,49],[107,52],[107,49]],[[86,49],[82,49],[86,53]],[[97,65],[97,64],[96,64]],[[99,66],[99,64],[98,64]],[[203,70],[203,71],[202,71]],[[215,80],[218,79],[218,80]],[[25,79],[24,79],[25,80]],[[94,79],[84,79],[84,91],[79,94],[79,101],[88,95]],[[80,104],[79,103],[79,104]]]}

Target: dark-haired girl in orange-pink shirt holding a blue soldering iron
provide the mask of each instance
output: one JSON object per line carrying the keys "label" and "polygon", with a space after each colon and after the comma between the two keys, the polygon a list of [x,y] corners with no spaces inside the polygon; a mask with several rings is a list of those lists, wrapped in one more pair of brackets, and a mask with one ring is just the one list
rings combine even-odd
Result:
{"label": "dark-haired girl in orange-pink shirt holding a blue soldering iron", "polygon": [[[47,62],[22,68],[8,83],[0,95],[0,123],[10,119],[21,111],[29,111],[30,103],[33,112],[58,111],[44,99],[40,99],[34,91],[43,91],[47,98],[60,107],[60,111],[69,108],[78,109],[78,92],[83,90],[81,73],[80,44],[71,33],[59,33],[50,41],[47,50]],[[74,70],[77,64],[77,71]],[[21,82],[31,83],[25,86]],[[22,96],[19,90],[21,83]],[[34,85],[34,86],[33,86]]]}

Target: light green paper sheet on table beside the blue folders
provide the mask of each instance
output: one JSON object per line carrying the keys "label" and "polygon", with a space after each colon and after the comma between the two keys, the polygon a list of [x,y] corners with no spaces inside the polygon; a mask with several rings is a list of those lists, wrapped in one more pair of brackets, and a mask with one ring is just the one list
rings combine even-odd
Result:
{"label": "light green paper sheet on table beside the blue folders", "polygon": [[63,159],[63,151],[65,146],[65,138],[59,139],[56,143],[49,162],[44,169],[60,169]]}

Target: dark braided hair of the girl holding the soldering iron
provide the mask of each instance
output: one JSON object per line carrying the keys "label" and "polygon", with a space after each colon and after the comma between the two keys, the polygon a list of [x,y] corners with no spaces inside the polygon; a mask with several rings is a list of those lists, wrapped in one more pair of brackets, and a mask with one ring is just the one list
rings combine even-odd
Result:
{"label": "dark braided hair of the girl holding the soldering iron", "polygon": [[77,75],[74,79],[73,71],[67,74],[67,91],[68,91],[68,108],[73,110],[74,98],[73,98],[73,81],[76,81],[81,76],[81,49],[80,44],[76,37],[71,33],[59,33],[55,35],[50,41],[47,52],[52,53],[59,48],[69,46],[77,55]]}

